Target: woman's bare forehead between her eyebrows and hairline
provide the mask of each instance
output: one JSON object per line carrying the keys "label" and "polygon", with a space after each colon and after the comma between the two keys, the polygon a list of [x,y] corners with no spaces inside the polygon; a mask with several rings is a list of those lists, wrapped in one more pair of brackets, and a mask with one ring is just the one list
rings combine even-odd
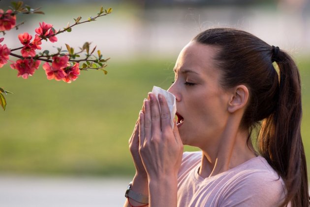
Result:
{"label": "woman's bare forehead between her eyebrows and hairline", "polygon": [[215,72],[216,64],[214,57],[218,48],[195,41],[189,42],[180,52],[174,71],[204,74]]}

